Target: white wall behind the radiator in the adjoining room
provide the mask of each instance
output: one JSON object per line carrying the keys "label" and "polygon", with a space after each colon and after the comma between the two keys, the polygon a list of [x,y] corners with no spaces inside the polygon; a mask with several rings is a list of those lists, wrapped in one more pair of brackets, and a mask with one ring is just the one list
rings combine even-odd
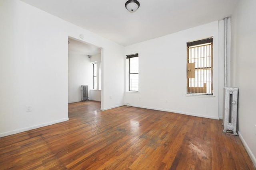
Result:
{"label": "white wall behind the radiator in the adjoining room", "polygon": [[81,101],[81,85],[88,85],[88,98],[91,100],[92,72],[92,63],[87,55],[68,51],[68,103]]}

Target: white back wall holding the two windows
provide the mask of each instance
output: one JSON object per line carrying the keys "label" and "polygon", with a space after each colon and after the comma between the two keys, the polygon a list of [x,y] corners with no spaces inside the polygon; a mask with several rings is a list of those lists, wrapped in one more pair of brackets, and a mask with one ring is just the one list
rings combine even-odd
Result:
{"label": "white back wall holding the two windows", "polygon": [[[219,93],[219,83],[223,80],[219,81],[218,75],[223,74],[223,70],[218,70],[218,66],[223,64],[223,55],[219,59],[218,34],[219,24],[215,21],[125,47],[125,55],[139,53],[139,92],[126,92],[124,102],[132,106],[218,119],[218,98],[223,94]],[[185,95],[186,42],[211,36],[214,37],[213,96]]]}

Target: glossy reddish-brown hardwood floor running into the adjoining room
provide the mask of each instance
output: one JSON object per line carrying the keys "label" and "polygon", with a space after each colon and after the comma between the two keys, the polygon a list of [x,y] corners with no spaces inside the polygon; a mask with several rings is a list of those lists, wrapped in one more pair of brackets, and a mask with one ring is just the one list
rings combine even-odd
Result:
{"label": "glossy reddish-brown hardwood floor running into the adjoining room", "polygon": [[0,138],[0,169],[254,170],[222,121],[136,107],[69,104],[69,121]]}

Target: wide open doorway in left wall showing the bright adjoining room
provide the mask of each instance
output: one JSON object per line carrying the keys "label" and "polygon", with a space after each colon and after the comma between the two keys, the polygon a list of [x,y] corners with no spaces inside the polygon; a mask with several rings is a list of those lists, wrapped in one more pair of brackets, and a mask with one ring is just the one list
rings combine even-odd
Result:
{"label": "wide open doorway in left wall showing the bright adjoining room", "polygon": [[101,48],[68,37],[68,103],[82,101],[81,85],[89,100],[101,102]]}

